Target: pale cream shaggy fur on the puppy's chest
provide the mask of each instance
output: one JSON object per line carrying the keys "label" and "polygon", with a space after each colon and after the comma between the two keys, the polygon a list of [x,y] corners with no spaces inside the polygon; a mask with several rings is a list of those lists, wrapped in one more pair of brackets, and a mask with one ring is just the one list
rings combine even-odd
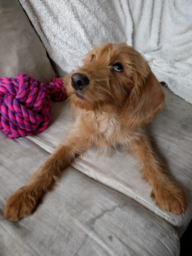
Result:
{"label": "pale cream shaggy fur on the puppy's chest", "polygon": [[128,149],[130,143],[141,136],[141,131],[123,126],[116,112],[99,113],[76,108],[73,113],[73,127],[83,127],[91,145],[98,148],[99,155],[109,155],[111,148],[119,146]]}

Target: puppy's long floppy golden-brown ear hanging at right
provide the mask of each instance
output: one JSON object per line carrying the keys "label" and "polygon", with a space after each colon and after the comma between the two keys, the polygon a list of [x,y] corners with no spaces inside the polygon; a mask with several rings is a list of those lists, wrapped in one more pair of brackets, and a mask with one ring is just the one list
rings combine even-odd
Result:
{"label": "puppy's long floppy golden-brown ear hanging at right", "polygon": [[161,111],[164,103],[164,92],[161,84],[145,63],[148,75],[135,72],[133,87],[121,111],[121,119],[126,126],[142,126],[151,121]]}

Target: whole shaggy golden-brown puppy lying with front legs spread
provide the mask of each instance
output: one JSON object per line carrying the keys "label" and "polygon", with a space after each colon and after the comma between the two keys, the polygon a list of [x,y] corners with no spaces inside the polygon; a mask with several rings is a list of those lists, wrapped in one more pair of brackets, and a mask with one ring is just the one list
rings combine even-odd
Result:
{"label": "whole shaggy golden-brown puppy lying with front legs spread", "polygon": [[92,49],[64,82],[74,118],[68,139],[7,200],[4,216],[17,221],[33,213],[75,156],[92,145],[102,154],[116,145],[131,150],[143,165],[157,205],[184,213],[185,194],[166,175],[142,128],[164,106],[164,92],[143,56],[125,43],[107,43]]}

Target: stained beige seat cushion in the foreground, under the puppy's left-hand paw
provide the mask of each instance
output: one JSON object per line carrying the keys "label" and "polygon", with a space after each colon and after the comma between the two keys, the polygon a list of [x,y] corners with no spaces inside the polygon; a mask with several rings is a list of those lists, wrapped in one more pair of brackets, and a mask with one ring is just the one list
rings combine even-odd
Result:
{"label": "stained beige seat cushion in the foreground, under the puppy's left-hand paw", "polygon": [[26,138],[0,134],[0,255],[179,256],[179,237],[169,223],[72,167],[34,214],[6,220],[6,198],[48,155]]}

